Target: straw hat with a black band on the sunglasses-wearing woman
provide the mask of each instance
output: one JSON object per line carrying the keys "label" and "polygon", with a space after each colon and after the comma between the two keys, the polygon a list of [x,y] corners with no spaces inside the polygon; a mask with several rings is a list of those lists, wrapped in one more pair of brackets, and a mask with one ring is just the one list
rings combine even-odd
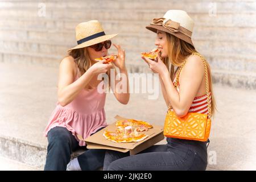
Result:
{"label": "straw hat with a black band on the sunglasses-wearing woman", "polygon": [[90,20],[76,26],[77,46],[71,49],[79,49],[92,46],[93,44],[104,42],[116,36],[117,34],[106,35],[98,20]]}

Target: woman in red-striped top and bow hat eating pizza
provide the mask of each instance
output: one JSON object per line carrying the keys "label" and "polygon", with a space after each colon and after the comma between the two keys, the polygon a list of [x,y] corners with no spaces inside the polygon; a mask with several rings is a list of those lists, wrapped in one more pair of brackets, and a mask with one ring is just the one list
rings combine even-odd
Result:
{"label": "woman in red-striped top and bow hat eating pizza", "polygon": [[[204,64],[191,40],[193,20],[185,11],[169,10],[146,28],[156,33],[155,45],[160,55],[156,61],[142,58],[152,72],[159,73],[167,107],[171,105],[177,117],[183,117],[188,111],[208,114]],[[176,89],[173,81],[184,61]],[[210,72],[208,75],[213,114]],[[167,144],[152,146],[138,155],[107,151],[104,161],[104,170],[205,170],[206,167],[207,142],[168,137]]]}

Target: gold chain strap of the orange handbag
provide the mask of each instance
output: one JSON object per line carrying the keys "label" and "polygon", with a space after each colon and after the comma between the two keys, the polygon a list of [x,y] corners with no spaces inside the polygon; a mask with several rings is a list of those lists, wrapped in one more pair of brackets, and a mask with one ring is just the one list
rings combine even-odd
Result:
{"label": "gold chain strap of the orange handbag", "polygon": [[[205,61],[204,57],[202,55],[200,55],[200,53],[193,52],[192,55],[200,56],[201,60],[203,60],[203,63],[204,63],[205,82],[206,82],[206,90],[207,90],[208,118],[210,118],[210,117],[212,117],[212,110],[211,110],[212,104],[210,104],[210,93],[209,93],[209,81],[208,81],[207,64],[206,64],[206,61]],[[183,64],[180,66],[180,68],[177,72],[176,80],[175,80],[175,83],[174,83],[175,89],[177,88],[177,85],[178,85],[178,82],[179,82],[181,69],[184,67],[186,61],[187,61],[187,59],[183,62]],[[172,106],[171,106],[171,104],[169,104],[168,110],[171,110],[171,108],[172,108]]]}

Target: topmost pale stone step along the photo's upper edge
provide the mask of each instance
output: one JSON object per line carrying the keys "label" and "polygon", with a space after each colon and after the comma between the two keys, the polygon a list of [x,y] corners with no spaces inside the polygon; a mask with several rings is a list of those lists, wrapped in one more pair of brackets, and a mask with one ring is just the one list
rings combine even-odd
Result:
{"label": "topmost pale stone step along the photo's upper edge", "polygon": [[[1,2],[0,7],[2,9],[8,8],[19,8],[22,7],[23,9],[26,8],[35,8],[40,5],[40,2],[32,2],[32,1],[7,1]],[[234,3],[235,2],[235,3]],[[129,10],[138,10],[138,9],[145,9],[145,10],[155,10],[155,7],[158,7],[159,4],[164,3],[164,9],[167,7],[172,7],[172,9],[184,9],[189,13],[208,13],[210,8],[212,8],[212,3],[205,1],[205,2],[198,2],[198,1],[185,1],[186,6],[184,7],[182,3],[176,3],[173,1],[97,1],[97,3],[84,3],[84,1],[44,1],[43,2],[47,9],[67,9],[67,10],[90,10],[90,9],[105,9],[105,10],[122,10],[122,9],[129,9]],[[237,2],[237,1],[229,1],[226,2],[224,0],[217,0],[214,1],[217,6],[218,13],[233,13],[234,11],[240,13],[254,13],[256,10],[256,3],[253,0],[244,1],[244,2]],[[77,6],[79,4],[79,6]],[[202,8],[204,7],[204,8]]]}

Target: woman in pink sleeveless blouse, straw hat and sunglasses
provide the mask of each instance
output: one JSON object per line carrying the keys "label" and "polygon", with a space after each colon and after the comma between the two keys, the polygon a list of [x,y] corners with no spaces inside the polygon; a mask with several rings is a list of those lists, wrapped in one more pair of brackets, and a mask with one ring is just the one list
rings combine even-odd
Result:
{"label": "woman in pink sleeveless blouse, straw hat and sunglasses", "polygon": [[73,170],[95,170],[103,166],[105,150],[86,150],[71,162],[70,159],[73,151],[86,146],[81,137],[85,139],[107,126],[104,110],[106,93],[99,91],[104,82],[98,79],[99,74],[107,73],[110,79],[109,71],[115,65],[126,75],[126,80],[121,81],[125,81],[127,90],[118,92],[118,88],[112,87],[114,96],[122,104],[129,101],[125,51],[114,44],[118,49],[114,65],[105,63],[105,60],[94,60],[108,55],[112,45],[110,39],[116,35],[106,35],[97,20],[80,23],[76,27],[78,45],[69,49],[68,56],[60,63],[58,102],[44,131],[48,139],[44,170],[66,170],[67,164]]}

